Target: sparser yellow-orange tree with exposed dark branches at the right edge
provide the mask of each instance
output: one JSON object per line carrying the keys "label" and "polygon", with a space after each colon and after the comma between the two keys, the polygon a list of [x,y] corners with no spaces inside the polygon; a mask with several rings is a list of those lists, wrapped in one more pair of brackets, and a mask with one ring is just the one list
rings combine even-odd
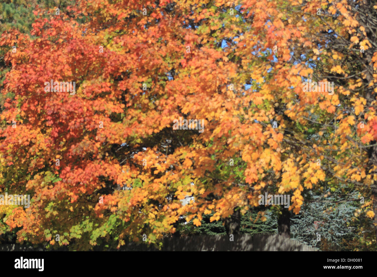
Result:
{"label": "sparser yellow-orange tree with exposed dark branches at the right edge", "polygon": [[[377,6],[365,1],[293,4],[305,20],[300,26],[303,37],[310,41],[292,50],[297,64],[312,69],[302,81],[330,82],[335,89],[304,92],[297,88],[299,101],[290,105],[296,113],[284,113],[307,126],[304,129],[310,127],[316,140],[297,139],[300,134],[296,133],[290,143],[320,160],[327,180],[320,190],[329,187],[335,191],[344,184],[349,190],[359,190],[358,197],[343,191],[344,199],[358,204],[356,214],[374,218],[376,226],[373,57],[377,54],[371,24]],[[310,103],[313,98],[317,103]]]}

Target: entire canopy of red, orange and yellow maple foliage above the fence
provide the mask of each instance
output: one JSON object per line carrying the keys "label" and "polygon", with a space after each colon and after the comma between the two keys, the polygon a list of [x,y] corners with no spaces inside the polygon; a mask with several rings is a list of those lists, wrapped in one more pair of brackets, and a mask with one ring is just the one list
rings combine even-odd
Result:
{"label": "entire canopy of red, orange and yellow maple foliage above the fence", "polygon": [[[341,184],[364,193],[374,179],[372,156],[363,161],[375,103],[359,91],[365,72],[341,63],[341,28],[374,54],[342,1],[90,0],[34,15],[30,35],[12,29],[0,43],[11,68],[1,191],[32,196],[30,208],[2,218],[20,241],[155,243],[180,220],[200,226],[209,214],[237,232],[265,192],[292,195],[289,209],[274,207],[279,233],[290,236],[305,193]],[[305,91],[314,77],[336,80],[334,92]],[[354,155],[355,145],[366,151]]]}

